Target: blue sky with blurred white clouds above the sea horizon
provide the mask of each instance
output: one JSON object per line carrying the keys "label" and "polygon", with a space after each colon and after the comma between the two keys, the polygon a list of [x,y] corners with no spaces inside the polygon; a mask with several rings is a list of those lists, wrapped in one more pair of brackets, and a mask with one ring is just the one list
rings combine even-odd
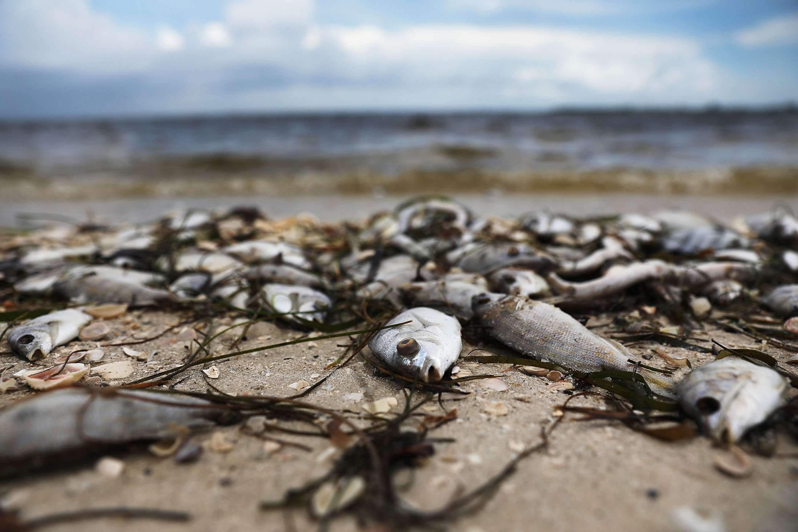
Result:
{"label": "blue sky with blurred white clouds above the sea horizon", "polygon": [[0,0],[0,117],[798,101],[798,0]]}

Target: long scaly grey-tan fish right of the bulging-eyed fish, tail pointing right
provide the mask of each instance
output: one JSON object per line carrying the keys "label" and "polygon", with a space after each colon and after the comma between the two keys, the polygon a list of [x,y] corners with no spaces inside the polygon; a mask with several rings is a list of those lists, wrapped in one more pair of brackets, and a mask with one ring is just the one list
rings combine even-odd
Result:
{"label": "long scaly grey-tan fish right of the bulging-eyed fish, tail pointing right", "polygon": [[[616,341],[591,332],[554,305],[519,296],[496,301],[476,296],[474,313],[487,325],[492,337],[519,353],[552,361],[580,372],[632,371],[634,356]],[[646,368],[638,368],[654,392],[673,395],[671,380]]]}

